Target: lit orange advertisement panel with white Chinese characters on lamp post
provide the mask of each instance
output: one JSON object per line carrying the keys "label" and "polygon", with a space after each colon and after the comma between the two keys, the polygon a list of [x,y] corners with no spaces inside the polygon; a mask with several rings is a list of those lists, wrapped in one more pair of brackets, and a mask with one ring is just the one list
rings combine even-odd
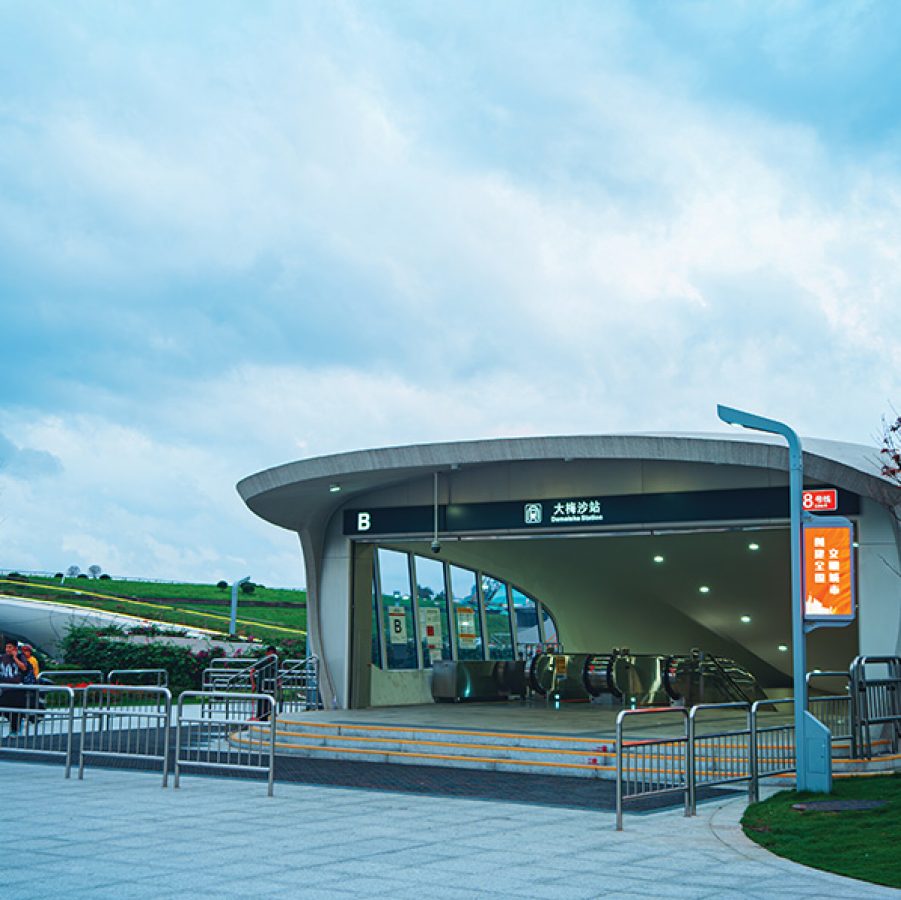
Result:
{"label": "lit orange advertisement panel with white Chinese characters on lamp post", "polygon": [[847,519],[804,523],[804,618],[853,619],[854,557]]}

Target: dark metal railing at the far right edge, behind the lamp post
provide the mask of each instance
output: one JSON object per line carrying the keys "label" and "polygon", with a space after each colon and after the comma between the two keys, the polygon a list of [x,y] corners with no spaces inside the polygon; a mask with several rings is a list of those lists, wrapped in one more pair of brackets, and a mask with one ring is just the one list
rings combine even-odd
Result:
{"label": "dark metal railing at the far right edge, behind the lamp post", "polygon": [[890,752],[897,753],[901,738],[901,658],[858,656],[851,663],[851,696],[854,738],[860,754],[872,758],[875,726],[881,726],[879,731],[888,740]]}

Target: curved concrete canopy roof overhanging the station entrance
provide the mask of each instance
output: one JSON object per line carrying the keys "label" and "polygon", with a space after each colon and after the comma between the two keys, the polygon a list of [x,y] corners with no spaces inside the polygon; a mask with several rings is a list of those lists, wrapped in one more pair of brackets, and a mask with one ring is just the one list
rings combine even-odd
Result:
{"label": "curved concrete canopy roof overhanging the station entrance", "polygon": [[[901,488],[880,475],[879,451],[861,444],[802,439],[804,471],[885,505],[901,504]],[[612,434],[495,438],[413,444],[319,456],[265,469],[238,482],[238,493],[263,519],[301,531],[356,494],[438,470],[542,460],[631,459],[710,463],[786,471],[784,441],[748,431],[716,434]],[[331,483],[341,485],[330,493]]]}

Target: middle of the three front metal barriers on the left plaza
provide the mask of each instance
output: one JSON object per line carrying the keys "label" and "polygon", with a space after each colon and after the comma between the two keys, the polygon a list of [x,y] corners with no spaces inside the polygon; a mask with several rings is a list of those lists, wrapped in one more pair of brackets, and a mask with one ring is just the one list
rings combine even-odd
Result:
{"label": "middle of the three front metal barriers on the left plaza", "polygon": [[169,778],[172,694],[164,687],[92,684],[85,688],[78,777],[88,756],[158,761]]}

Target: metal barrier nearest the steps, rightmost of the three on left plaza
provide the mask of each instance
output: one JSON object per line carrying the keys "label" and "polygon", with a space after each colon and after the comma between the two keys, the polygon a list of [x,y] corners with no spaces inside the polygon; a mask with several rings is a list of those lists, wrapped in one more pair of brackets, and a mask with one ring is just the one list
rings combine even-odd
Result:
{"label": "metal barrier nearest the steps, rightmost of the three on left plaza", "polygon": [[[185,701],[193,701],[186,708]],[[230,701],[229,714],[206,709]],[[268,776],[272,796],[275,780],[275,698],[270,694],[186,691],[179,697],[175,731],[175,782],[182,769],[226,769]]]}

